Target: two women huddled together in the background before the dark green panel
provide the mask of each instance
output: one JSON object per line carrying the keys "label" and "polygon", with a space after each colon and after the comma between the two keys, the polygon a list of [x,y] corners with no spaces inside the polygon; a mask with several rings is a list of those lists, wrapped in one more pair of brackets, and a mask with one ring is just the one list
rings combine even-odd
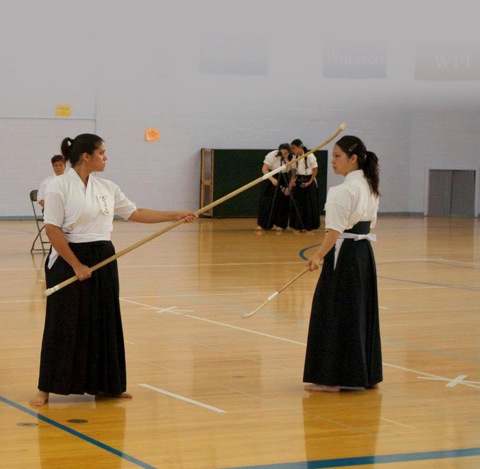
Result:
{"label": "two women huddled together in the background before the dark green panel", "polygon": [[[282,143],[263,160],[262,173],[267,174],[295,158],[308,153],[300,139]],[[318,207],[318,163],[311,153],[305,158],[269,177],[260,185],[257,231],[284,231],[288,227],[306,232],[320,227]]]}

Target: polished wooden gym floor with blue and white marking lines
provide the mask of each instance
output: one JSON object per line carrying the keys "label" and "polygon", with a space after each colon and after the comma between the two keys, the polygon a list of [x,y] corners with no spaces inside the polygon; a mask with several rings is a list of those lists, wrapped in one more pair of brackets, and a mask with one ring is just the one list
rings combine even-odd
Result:
{"label": "polished wooden gym floor with blue and white marking lines", "polygon": [[[323,222],[323,220],[322,220]],[[119,259],[133,400],[36,391],[43,255],[33,221],[0,222],[0,467],[480,467],[480,221],[380,217],[384,382],[308,394],[318,271],[249,319],[323,238],[200,219]],[[117,251],[159,225],[115,222]]]}

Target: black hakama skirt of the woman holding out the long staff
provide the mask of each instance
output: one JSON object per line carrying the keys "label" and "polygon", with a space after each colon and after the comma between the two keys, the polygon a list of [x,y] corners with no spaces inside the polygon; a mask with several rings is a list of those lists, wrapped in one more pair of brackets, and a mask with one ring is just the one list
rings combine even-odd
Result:
{"label": "black hakama skirt of the woman holding out the long staff", "polygon": [[[115,253],[110,241],[70,243],[70,247],[88,266]],[[51,269],[45,267],[47,288],[73,275],[60,256]],[[47,297],[38,389],[55,394],[118,395],[126,387],[118,268],[113,261],[93,272],[90,279],[75,281]]]}

